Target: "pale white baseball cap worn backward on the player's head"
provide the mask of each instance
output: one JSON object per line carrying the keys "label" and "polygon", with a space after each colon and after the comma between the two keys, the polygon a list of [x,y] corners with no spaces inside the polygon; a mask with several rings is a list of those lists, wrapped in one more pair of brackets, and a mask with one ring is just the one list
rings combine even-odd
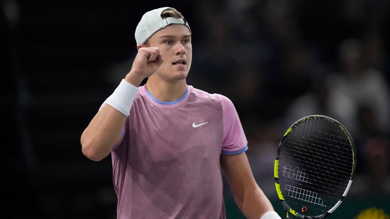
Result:
{"label": "pale white baseball cap worn backward on the player's head", "polygon": [[135,33],[137,45],[144,44],[151,35],[157,32],[157,30],[165,28],[170,24],[183,24],[187,26],[189,32],[191,32],[191,29],[189,28],[189,25],[184,18],[161,18],[161,13],[168,9],[176,11],[174,8],[164,7],[148,11],[142,16],[140,22],[137,25]]}

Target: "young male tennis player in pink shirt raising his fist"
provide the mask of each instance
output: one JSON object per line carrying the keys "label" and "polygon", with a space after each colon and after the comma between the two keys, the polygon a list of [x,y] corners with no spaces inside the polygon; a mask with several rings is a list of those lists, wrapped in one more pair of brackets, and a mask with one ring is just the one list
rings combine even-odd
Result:
{"label": "young male tennis player in pink shirt raising his fist", "polygon": [[132,69],[81,135],[89,159],[111,153],[117,217],[225,218],[222,167],[247,218],[280,218],[253,178],[233,103],[186,84],[186,20],[173,8],[155,9],[135,36]]}

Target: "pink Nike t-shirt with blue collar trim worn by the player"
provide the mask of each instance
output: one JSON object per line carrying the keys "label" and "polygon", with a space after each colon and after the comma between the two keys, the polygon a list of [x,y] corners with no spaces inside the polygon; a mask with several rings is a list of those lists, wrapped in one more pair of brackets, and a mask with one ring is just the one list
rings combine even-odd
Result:
{"label": "pink Nike t-shirt with blue collar trim worn by the player", "polygon": [[228,98],[187,86],[161,102],[140,87],[111,152],[117,218],[225,218],[219,157],[247,149]]}

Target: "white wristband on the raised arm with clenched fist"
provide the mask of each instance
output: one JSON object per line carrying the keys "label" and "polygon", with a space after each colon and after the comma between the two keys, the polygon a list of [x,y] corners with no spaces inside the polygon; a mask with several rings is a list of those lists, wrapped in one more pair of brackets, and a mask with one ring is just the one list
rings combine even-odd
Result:
{"label": "white wristband on the raised arm with clenched fist", "polygon": [[121,114],[128,117],[137,92],[138,88],[136,86],[122,79],[119,86],[115,89],[114,93],[112,93],[111,96],[107,98],[106,104],[109,104]]}

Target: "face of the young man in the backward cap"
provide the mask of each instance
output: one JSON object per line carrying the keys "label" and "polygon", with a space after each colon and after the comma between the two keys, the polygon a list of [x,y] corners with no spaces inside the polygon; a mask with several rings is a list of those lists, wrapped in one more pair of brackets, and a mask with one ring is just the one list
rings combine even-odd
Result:
{"label": "face of the young man in the backward cap", "polygon": [[187,77],[192,61],[192,45],[191,33],[186,26],[171,24],[160,29],[149,38],[146,46],[158,47],[164,58],[155,76],[170,82]]}

